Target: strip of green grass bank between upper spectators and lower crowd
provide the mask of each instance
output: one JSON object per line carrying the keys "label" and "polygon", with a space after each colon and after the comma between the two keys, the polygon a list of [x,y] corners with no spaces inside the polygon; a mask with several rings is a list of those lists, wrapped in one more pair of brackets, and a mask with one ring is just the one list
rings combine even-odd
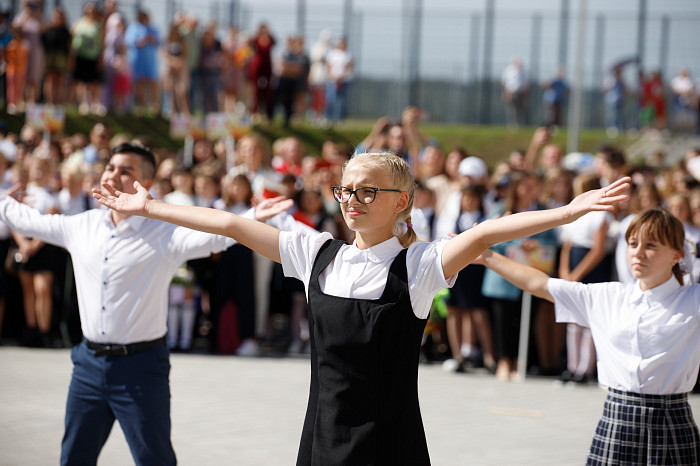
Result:
{"label": "strip of green grass bank between upper spectators and lower crowd", "polygon": [[[24,124],[23,115],[0,114],[0,119],[7,123],[9,131],[17,133]],[[88,134],[97,122],[103,122],[116,133],[126,133],[132,137],[146,136],[153,147],[177,151],[182,141],[173,140],[169,134],[169,122],[162,117],[113,115],[105,117],[82,116],[74,110],[66,112],[66,134]],[[319,154],[326,140],[333,140],[354,148],[371,130],[374,121],[348,120],[331,129],[314,128],[308,123],[293,124],[284,128],[275,121],[273,124],[257,125],[254,131],[260,133],[270,144],[277,138],[297,136],[306,146],[309,154]],[[423,123],[421,132],[437,140],[444,149],[462,147],[469,153],[478,155],[493,167],[500,160],[508,157],[515,149],[526,149],[535,128],[509,130],[502,126],[473,126],[459,124]],[[552,142],[566,147],[566,131],[560,129],[553,136]],[[625,147],[630,140],[621,138],[611,141],[602,129],[584,129],[580,133],[579,151],[592,152],[603,144],[615,143]]]}

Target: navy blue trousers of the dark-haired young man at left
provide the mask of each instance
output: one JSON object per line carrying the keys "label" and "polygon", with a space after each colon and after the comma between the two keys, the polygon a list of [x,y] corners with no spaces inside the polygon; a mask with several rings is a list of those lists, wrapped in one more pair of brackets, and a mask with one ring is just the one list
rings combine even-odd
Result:
{"label": "navy blue trousers of the dark-haired young man at left", "polygon": [[176,464],[170,443],[168,348],[127,356],[94,354],[85,341],[71,352],[61,464],[96,464],[115,419],[137,465]]}

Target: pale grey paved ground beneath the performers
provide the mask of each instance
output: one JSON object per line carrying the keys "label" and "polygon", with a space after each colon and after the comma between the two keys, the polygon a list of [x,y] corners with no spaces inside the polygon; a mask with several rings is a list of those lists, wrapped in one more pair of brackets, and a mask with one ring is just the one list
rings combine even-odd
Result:
{"label": "pale grey paved ground beneath the performers", "polygon": [[[58,464],[68,350],[0,347],[0,465]],[[308,395],[304,358],[175,354],[173,444],[182,465],[292,465]],[[435,465],[580,465],[602,411],[596,386],[551,379],[502,383],[487,374],[420,369]],[[700,413],[700,397],[691,397]],[[133,464],[115,425],[101,466]]]}

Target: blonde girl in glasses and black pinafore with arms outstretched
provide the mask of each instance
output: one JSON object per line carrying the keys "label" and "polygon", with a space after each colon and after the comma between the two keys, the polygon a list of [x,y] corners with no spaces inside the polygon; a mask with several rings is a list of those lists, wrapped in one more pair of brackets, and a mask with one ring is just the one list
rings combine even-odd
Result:
{"label": "blonde girl in glasses and black pinafore with arms outstretched", "polygon": [[311,388],[297,464],[429,464],[418,404],[421,337],[435,294],[499,241],[571,222],[626,199],[627,180],[559,209],[487,221],[460,235],[416,241],[414,180],[390,153],[358,154],[333,193],[352,244],[329,233],[281,232],[206,208],[153,200],[108,184],[93,195],[119,212],[236,238],[300,279],[309,303]]}

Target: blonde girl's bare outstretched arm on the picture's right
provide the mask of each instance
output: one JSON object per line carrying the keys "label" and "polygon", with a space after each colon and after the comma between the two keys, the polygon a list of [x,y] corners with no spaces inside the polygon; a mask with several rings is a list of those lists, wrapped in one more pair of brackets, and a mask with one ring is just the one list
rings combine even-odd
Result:
{"label": "blonde girl's bare outstretched arm on the picture's right", "polygon": [[614,204],[628,198],[622,193],[629,188],[629,180],[629,177],[621,178],[605,188],[585,192],[563,207],[507,215],[488,220],[461,233],[449,240],[442,250],[445,278],[462,270],[496,243],[532,236],[573,222],[594,210],[613,210]]}

